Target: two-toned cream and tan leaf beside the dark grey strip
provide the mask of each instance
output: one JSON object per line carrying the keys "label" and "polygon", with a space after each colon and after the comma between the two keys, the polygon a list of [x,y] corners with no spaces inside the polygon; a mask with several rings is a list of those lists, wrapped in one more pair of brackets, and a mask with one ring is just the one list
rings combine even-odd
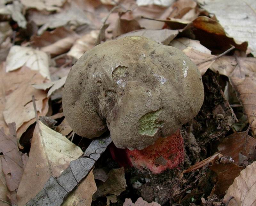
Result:
{"label": "two-toned cream and tan leaf beside the dark grey strip", "polygon": [[38,121],[17,192],[18,204],[25,205],[34,198],[51,176],[59,177],[69,163],[82,154],[66,137]]}

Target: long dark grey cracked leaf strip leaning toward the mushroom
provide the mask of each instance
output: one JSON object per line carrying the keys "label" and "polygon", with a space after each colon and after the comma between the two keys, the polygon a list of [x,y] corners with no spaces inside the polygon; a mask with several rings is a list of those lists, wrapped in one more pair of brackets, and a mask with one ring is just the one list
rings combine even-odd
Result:
{"label": "long dark grey cracked leaf strip leaning toward the mushroom", "polygon": [[54,202],[56,206],[60,206],[65,197],[87,176],[111,142],[110,136],[92,140],[83,156],[71,161],[69,167],[58,178],[51,176],[44,188],[26,205],[46,205]]}

